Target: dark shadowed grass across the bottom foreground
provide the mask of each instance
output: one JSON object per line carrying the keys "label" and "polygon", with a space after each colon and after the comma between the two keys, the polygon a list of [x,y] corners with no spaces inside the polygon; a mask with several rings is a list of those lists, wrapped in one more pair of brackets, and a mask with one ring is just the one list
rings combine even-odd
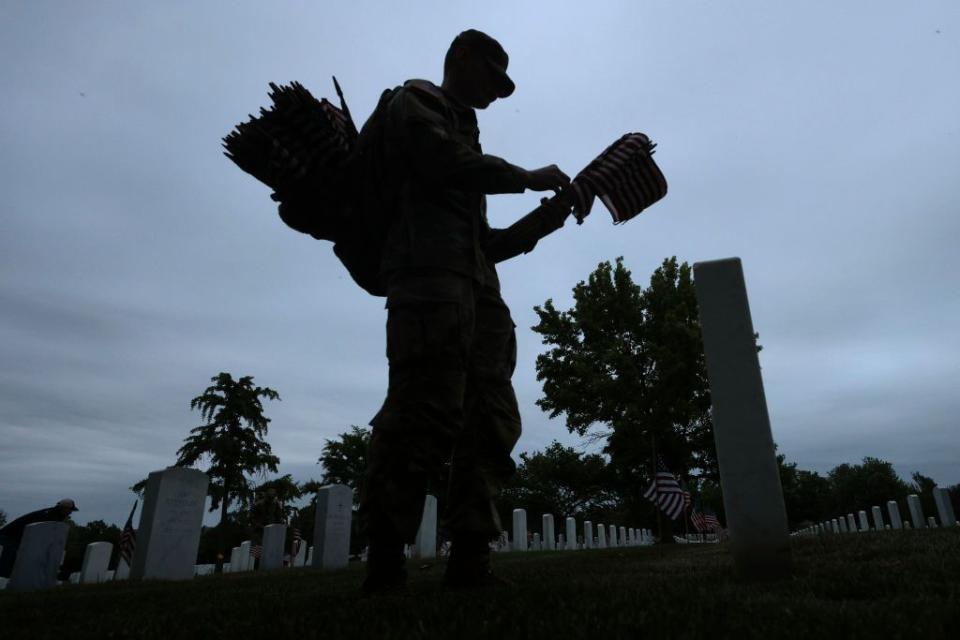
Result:
{"label": "dark shadowed grass across the bottom foreground", "polygon": [[0,592],[0,637],[960,637],[960,528],[793,549],[795,577],[763,585],[737,582],[724,546],[667,545],[497,555],[515,587],[475,591],[411,563],[409,592],[377,598],[360,567]]}

